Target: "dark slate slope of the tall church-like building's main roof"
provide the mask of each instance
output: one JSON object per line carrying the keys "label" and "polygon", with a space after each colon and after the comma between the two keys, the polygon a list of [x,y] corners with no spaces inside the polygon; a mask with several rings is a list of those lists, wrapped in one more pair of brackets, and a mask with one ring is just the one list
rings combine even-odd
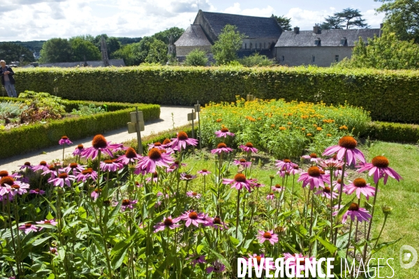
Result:
{"label": "dark slate slope of the tall church-like building's main roof", "polygon": [[[226,24],[235,25],[240,33],[248,38],[279,38],[281,27],[273,17],[251,17],[248,15],[232,15],[228,13],[202,12],[210,24],[210,28],[218,37]],[[193,22],[194,24],[196,22]]]}

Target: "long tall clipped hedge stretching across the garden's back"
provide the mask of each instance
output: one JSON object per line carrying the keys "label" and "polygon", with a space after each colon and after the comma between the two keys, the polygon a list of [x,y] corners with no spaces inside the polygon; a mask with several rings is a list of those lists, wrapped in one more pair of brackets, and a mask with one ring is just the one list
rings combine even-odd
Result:
{"label": "long tall clipped hedge stretching across the garden's back", "polygon": [[17,91],[53,92],[71,100],[193,105],[284,98],[362,106],[372,119],[419,123],[419,71],[314,67],[172,67],[17,69]]}

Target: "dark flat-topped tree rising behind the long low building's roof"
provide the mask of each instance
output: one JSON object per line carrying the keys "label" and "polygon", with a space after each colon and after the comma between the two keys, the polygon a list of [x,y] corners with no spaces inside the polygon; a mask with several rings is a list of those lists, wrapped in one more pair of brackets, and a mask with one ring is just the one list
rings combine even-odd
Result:
{"label": "dark flat-topped tree rising behind the long low building's roof", "polygon": [[366,20],[362,18],[360,10],[346,8],[339,13],[334,13],[333,16],[325,18],[325,22],[321,24],[321,28],[323,29],[351,29],[351,27],[369,28],[369,25],[365,22]]}

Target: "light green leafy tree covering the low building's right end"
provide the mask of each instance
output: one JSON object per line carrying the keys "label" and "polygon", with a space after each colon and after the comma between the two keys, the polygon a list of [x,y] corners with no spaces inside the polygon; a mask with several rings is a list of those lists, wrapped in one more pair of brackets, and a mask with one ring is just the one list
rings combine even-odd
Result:
{"label": "light green leafy tree covering the low building's right end", "polygon": [[395,33],[381,37],[362,38],[355,44],[351,59],[343,60],[337,66],[348,68],[418,69],[419,45],[413,40],[399,40]]}

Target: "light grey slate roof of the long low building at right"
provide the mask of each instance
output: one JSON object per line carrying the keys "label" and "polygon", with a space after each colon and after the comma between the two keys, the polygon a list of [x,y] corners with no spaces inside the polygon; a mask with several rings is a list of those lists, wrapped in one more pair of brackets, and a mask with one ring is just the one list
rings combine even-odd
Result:
{"label": "light grey slate roof of the long low building at right", "polygon": [[[322,30],[321,33],[314,33],[312,30],[299,33],[286,31],[281,34],[275,47],[339,47],[341,38],[346,38],[345,46],[354,47],[359,37],[367,41],[367,38],[374,38],[379,33],[380,29],[335,29]],[[314,44],[316,38],[320,38],[320,46]]]}

